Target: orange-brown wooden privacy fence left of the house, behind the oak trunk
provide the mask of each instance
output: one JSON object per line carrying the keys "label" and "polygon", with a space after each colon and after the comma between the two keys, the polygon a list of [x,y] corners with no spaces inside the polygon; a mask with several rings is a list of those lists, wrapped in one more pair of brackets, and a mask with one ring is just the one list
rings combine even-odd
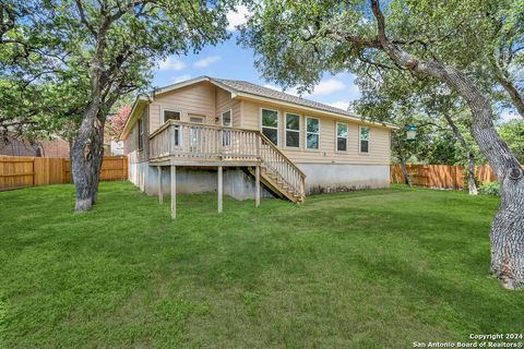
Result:
{"label": "orange-brown wooden privacy fence left of the house, behind the oak trunk", "polygon": [[[0,191],[34,185],[61,184],[71,182],[68,158],[51,157],[0,157]],[[126,156],[104,157],[102,181],[128,179]]]}

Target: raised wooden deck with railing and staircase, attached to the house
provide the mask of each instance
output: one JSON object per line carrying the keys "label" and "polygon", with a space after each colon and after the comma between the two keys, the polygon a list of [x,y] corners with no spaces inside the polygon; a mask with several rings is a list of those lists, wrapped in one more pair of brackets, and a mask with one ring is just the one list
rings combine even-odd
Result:
{"label": "raised wooden deck with railing and staircase, attached to the house", "polygon": [[259,131],[169,120],[150,135],[148,155],[158,167],[258,168],[253,176],[281,197],[305,200],[306,176]]}

